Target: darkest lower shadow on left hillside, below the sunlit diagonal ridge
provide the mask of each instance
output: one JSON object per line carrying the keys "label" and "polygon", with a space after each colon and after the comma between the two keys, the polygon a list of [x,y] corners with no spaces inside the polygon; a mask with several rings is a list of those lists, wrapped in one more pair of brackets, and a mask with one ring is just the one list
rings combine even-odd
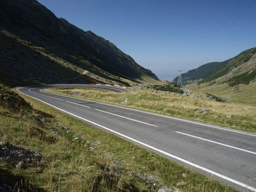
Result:
{"label": "darkest lower shadow on left hillside, below the sunlit diagonal ridge", "polygon": [[0,33],[0,82],[9,86],[100,82]]}

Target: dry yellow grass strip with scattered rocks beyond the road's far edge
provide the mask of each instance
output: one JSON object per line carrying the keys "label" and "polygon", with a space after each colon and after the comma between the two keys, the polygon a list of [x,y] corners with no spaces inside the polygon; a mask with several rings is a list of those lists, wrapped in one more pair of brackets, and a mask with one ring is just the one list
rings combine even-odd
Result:
{"label": "dry yellow grass strip with scattered rocks beyond the road's far edge", "polygon": [[[187,118],[204,123],[214,123],[220,126],[238,128],[246,131],[256,131],[256,108],[249,105],[229,104],[208,99],[203,93],[198,93],[202,99],[180,96],[178,93],[164,91],[140,90],[135,93],[113,93],[95,89],[48,89],[52,93],[73,95],[94,101],[103,101],[132,107],[139,110],[157,112],[159,114]],[[128,99],[127,104],[121,101]],[[202,111],[202,108],[210,108]],[[226,115],[232,115],[227,118]]]}

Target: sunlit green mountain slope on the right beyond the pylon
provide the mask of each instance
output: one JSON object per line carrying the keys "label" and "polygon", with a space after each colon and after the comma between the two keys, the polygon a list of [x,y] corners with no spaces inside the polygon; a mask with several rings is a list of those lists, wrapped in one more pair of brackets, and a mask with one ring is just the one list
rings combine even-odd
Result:
{"label": "sunlit green mountain slope on the right beyond the pylon", "polygon": [[[226,61],[204,64],[181,75],[184,85],[211,81],[228,82],[230,85],[248,84],[256,79],[256,47]],[[178,77],[173,82],[177,80]]]}

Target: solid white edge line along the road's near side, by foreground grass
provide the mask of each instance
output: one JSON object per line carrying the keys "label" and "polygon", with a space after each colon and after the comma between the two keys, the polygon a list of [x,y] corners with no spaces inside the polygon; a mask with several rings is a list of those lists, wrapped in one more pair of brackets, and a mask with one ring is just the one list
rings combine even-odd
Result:
{"label": "solid white edge line along the road's near side, by foreground grass", "polygon": [[[20,91],[19,91],[19,88],[17,88],[16,90],[17,90],[18,92],[20,92]],[[20,93],[22,93],[22,92],[20,92]],[[27,95],[27,94],[25,94],[25,93],[22,93],[22,94],[23,94],[23,95],[26,95],[26,96],[29,96],[29,95]],[[37,98],[35,98],[35,97],[33,97],[33,96],[29,96],[29,97],[31,97],[31,98],[33,98],[33,99],[37,99]],[[131,140],[131,141],[133,141],[133,142],[137,142],[138,144],[143,145],[143,146],[145,146],[145,147],[148,147],[148,148],[150,148],[151,150],[155,150],[155,151],[157,151],[157,152],[159,152],[159,153],[162,153],[162,154],[164,154],[164,155],[167,155],[167,156],[169,156],[170,158],[175,158],[175,159],[177,159],[178,161],[181,161],[181,162],[183,162],[183,163],[185,163],[185,164],[189,164],[190,166],[195,166],[197,169],[202,169],[202,170],[205,171],[205,172],[208,172],[208,173],[210,173],[210,174],[214,174],[214,175],[216,175],[217,177],[220,177],[220,178],[222,178],[222,179],[224,179],[224,180],[228,180],[228,181],[230,181],[231,183],[235,183],[236,185],[240,185],[241,187],[248,188],[249,190],[256,192],[256,188],[253,188],[253,187],[251,187],[251,186],[249,186],[249,185],[246,185],[246,184],[244,184],[244,183],[241,183],[241,182],[239,182],[239,181],[237,181],[237,180],[233,180],[233,179],[231,179],[230,177],[226,177],[225,175],[219,174],[219,173],[217,173],[217,172],[211,171],[210,169],[206,169],[206,168],[204,168],[203,166],[199,166],[199,165],[194,164],[194,163],[192,163],[192,162],[190,162],[190,161],[187,161],[187,160],[185,160],[184,158],[179,158],[179,157],[176,156],[176,155],[172,155],[172,154],[167,153],[167,152],[165,152],[165,151],[163,151],[163,150],[159,150],[159,149],[157,149],[156,147],[152,147],[151,145],[147,145],[146,143],[140,142],[140,141],[138,141],[138,140],[136,140],[136,139],[133,139],[132,137],[128,137],[128,136],[126,136],[126,135],[124,135],[124,134],[118,133],[117,131],[114,131],[114,130],[112,130],[112,129],[110,129],[110,128],[107,128],[107,127],[105,127],[105,126],[101,126],[101,125],[99,125],[98,123],[92,122],[91,120],[87,120],[87,119],[85,119],[85,118],[81,118],[81,117],[79,117],[78,115],[75,115],[75,114],[72,114],[71,112],[67,112],[67,111],[65,111],[65,110],[62,110],[62,109],[60,109],[59,107],[55,107],[55,106],[53,106],[52,104],[49,104],[49,103],[47,103],[47,102],[45,102],[45,101],[42,101],[42,100],[40,100],[40,99],[37,99],[37,100],[38,100],[38,101],[41,101],[41,102],[43,102],[43,103],[45,103],[45,104],[48,104],[50,107],[54,107],[54,108],[56,108],[57,110],[60,110],[60,111],[62,111],[62,112],[66,112],[66,113],[69,114],[69,115],[72,115],[72,116],[74,116],[74,117],[76,117],[76,118],[80,118],[81,120],[85,120],[85,121],[87,121],[87,122],[89,122],[89,123],[91,123],[91,124],[94,124],[95,126],[99,126],[99,127],[101,127],[101,128],[104,128],[105,130],[108,130],[108,131],[110,131],[110,132],[112,132],[112,133],[114,133],[114,134],[117,134],[117,135],[121,136],[121,137],[127,138],[127,139],[129,139],[129,140]]]}

